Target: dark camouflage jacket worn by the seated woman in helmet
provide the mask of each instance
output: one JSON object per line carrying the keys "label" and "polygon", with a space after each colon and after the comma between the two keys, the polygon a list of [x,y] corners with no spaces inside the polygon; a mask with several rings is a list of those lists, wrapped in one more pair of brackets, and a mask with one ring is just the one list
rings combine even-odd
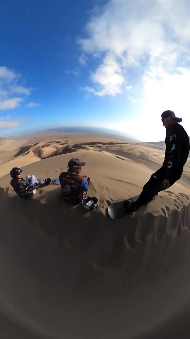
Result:
{"label": "dark camouflage jacket worn by the seated woman in helmet", "polygon": [[14,191],[19,195],[19,197],[30,200],[33,198],[33,190],[43,187],[43,182],[39,182],[38,184],[30,184],[27,181],[19,180],[19,183],[12,179],[10,182]]}

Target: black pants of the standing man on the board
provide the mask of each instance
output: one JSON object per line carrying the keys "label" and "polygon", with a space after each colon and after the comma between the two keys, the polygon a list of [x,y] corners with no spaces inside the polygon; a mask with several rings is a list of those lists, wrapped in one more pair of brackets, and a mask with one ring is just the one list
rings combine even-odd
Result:
{"label": "black pants of the standing man on the board", "polygon": [[[177,180],[180,179],[182,173],[176,173],[169,179],[169,187],[172,186]],[[148,180],[148,182],[144,185],[143,190],[135,202],[137,208],[140,206],[150,202],[152,198],[160,191],[164,191],[165,188],[163,186],[165,176],[165,169],[162,166],[159,170],[153,173]]]}

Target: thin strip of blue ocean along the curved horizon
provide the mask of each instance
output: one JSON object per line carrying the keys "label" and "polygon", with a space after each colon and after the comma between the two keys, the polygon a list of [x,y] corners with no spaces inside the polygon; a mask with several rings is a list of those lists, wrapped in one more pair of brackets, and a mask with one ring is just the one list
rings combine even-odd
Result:
{"label": "thin strip of blue ocean along the curved horizon", "polygon": [[115,129],[110,128],[101,128],[101,127],[60,127],[60,128],[48,128],[46,131],[64,131],[64,132],[79,132],[79,133],[108,133],[119,135],[126,138],[131,138],[138,140],[128,133],[116,131]]}

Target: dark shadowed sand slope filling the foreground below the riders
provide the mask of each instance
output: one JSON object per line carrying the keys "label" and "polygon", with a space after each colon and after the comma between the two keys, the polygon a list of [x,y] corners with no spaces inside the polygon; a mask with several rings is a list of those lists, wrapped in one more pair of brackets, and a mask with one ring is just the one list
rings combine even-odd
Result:
{"label": "dark shadowed sand slope filling the foreground below the riders", "polygon": [[140,219],[136,214],[111,223],[96,211],[89,215],[82,206],[68,207],[58,189],[30,205],[9,193],[0,192],[6,218],[1,304],[30,331],[52,338],[63,333],[130,338],[169,317],[190,297],[185,195],[179,200],[172,193],[175,207],[167,209],[167,195],[159,198],[159,215],[152,203]]}

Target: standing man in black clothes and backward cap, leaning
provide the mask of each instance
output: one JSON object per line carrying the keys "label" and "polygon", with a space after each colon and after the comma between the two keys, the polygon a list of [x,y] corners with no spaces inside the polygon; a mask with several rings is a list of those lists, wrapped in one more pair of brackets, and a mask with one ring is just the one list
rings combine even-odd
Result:
{"label": "standing man in black clothes and backward cap, leaning", "polygon": [[144,185],[137,201],[126,199],[124,206],[129,212],[138,208],[158,195],[158,192],[166,190],[181,178],[183,167],[189,155],[189,137],[178,122],[182,118],[175,116],[173,111],[165,111],[161,115],[163,126],[166,128],[166,152],[164,163],[157,172],[153,173],[149,181]]}

